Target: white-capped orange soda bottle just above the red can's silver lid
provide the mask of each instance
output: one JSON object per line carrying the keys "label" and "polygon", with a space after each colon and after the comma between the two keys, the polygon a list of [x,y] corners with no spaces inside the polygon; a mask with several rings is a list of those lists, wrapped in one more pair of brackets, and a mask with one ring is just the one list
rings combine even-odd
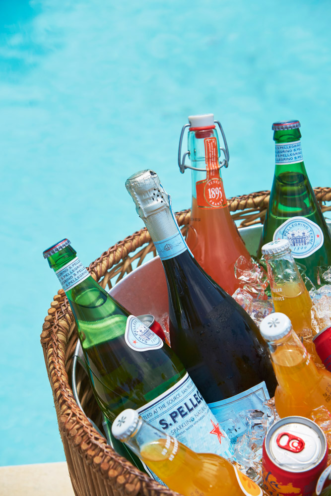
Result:
{"label": "white-capped orange soda bottle just above the red can's silver lid", "polygon": [[275,407],[279,417],[312,418],[312,411],[321,406],[331,414],[331,372],[315,365],[287,315],[270,313],[260,331],[278,382]]}

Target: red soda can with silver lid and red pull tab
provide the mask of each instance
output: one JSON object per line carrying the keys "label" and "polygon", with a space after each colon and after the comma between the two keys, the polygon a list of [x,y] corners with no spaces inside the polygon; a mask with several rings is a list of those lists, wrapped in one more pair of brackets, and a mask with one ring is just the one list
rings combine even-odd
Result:
{"label": "red soda can with silver lid and red pull tab", "polygon": [[270,496],[310,496],[327,461],[328,444],[321,428],[305,417],[284,417],[265,436],[264,489]]}

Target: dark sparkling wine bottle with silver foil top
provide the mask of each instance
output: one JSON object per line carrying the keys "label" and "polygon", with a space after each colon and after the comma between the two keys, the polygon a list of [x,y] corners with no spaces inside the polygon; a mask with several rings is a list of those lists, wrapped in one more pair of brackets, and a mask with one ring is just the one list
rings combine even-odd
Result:
{"label": "dark sparkling wine bottle with silver foil top", "polygon": [[157,174],[137,172],[126,187],[163,263],[171,347],[218,422],[232,418],[239,425],[238,414],[261,409],[276,386],[259,329],[193,258]]}

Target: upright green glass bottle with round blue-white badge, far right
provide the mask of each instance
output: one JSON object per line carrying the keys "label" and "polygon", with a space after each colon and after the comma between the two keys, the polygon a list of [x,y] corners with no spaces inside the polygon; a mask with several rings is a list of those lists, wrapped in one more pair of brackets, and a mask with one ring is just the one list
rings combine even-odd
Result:
{"label": "upright green glass bottle with round blue-white badge, far right", "polygon": [[331,236],[307,176],[299,127],[299,121],[272,124],[275,172],[257,254],[266,243],[287,239],[316,284],[317,267],[331,265]]}

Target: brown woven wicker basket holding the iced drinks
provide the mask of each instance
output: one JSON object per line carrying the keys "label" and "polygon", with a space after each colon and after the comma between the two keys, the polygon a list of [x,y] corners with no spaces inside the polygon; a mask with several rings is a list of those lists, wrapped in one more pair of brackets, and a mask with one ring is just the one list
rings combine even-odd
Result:
{"label": "brown woven wicker basket holding the iced drinks", "polygon": [[[331,202],[331,188],[315,188],[315,194],[322,210],[331,210],[331,205],[326,204]],[[228,205],[230,211],[234,212],[233,218],[241,222],[240,227],[245,227],[261,225],[268,200],[269,191],[259,191],[230,198]],[[176,217],[185,231],[190,210],[179,212]],[[103,288],[108,286],[111,289],[126,274],[132,272],[133,267],[146,261],[148,253],[156,255],[148,232],[141,229],[102,253],[90,264],[88,270]],[[77,406],[69,379],[76,341],[72,313],[64,291],[60,290],[45,317],[41,343],[75,495],[175,495],[176,493],[160,486],[118,455]],[[77,389],[86,415],[98,424],[99,409],[88,379],[82,371],[77,375]]]}

